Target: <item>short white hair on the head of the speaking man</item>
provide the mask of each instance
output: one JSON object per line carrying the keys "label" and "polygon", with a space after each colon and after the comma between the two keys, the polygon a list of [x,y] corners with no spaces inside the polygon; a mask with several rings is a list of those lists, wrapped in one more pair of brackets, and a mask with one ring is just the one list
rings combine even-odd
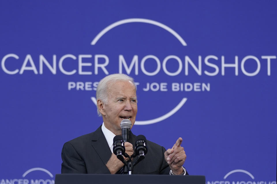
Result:
{"label": "short white hair on the head of the speaking man", "polygon": [[[111,74],[108,75],[104,78],[101,79],[101,81],[98,83],[97,89],[96,89],[96,101],[100,99],[102,103],[107,103],[108,102],[108,94],[107,94],[107,89],[108,86],[111,85],[112,83],[115,83],[117,81],[130,81],[131,83],[134,84],[134,87],[136,89],[136,85],[134,82],[134,79],[126,74]],[[97,106],[97,113],[98,116],[102,116],[102,114],[99,111],[98,104]]]}

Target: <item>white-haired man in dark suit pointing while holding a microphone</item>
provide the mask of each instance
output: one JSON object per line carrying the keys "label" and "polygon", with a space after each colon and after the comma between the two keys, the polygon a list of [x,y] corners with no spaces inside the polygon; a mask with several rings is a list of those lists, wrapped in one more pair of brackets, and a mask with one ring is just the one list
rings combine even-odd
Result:
{"label": "white-haired man in dark suit pointing while holding a microphone", "polygon": [[[103,78],[96,90],[97,112],[103,124],[93,133],[77,137],[63,145],[61,173],[119,174],[123,163],[113,154],[113,137],[121,135],[120,122],[136,120],[136,85],[125,74]],[[131,133],[125,142],[126,153],[134,153],[136,136]],[[133,174],[188,175],[183,164],[186,160],[180,137],[171,149],[147,141],[145,159],[135,167]],[[127,158],[126,158],[127,159]],[[135,158],[136,159],[136,158]]]}

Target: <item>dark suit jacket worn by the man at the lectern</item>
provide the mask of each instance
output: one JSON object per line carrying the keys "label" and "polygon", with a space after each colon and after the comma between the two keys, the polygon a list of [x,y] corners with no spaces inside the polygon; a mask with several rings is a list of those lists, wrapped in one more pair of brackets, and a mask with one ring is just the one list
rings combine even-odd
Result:
{"label": "dark suit jacket worn by the man at the lectern", "polygon": [[[102,126],[102,125],[101,125]],[[106,163],[111,150],[101,126],[93,133],[77,137],[63,145],[61,173],[111,174]],[[130,143],[135,147],[136,136],[131,133]],[[147,141],[145,159],[134,166],[132,174],[169,174],[170,168],[164,159],[164,147]],[[134,158],[136,160],[136,158]]]}

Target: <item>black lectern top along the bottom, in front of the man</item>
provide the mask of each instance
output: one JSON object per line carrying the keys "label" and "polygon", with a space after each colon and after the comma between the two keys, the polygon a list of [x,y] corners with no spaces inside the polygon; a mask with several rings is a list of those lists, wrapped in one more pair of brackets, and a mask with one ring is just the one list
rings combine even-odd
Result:
{"label": "black lectern top along the bottom, in front of the man", "polygon": [[205,184],[205,176],[58,174],[55,184]]}

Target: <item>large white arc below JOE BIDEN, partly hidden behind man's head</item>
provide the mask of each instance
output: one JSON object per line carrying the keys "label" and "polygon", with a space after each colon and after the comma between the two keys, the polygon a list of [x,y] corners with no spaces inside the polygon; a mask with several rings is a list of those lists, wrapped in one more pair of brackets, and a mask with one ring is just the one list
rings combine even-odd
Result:
{"label": "large white arc below JOE BIDEN, partly hidden behind man's head", "polygon": [[[95,97],[91,97],[90,99],[96,105],[96,98]],[[175,114],[175,112],[177,112],[186,103],[187,99],[188,98],[183,98],[174,109],[172,109],[168,113],[164,114],[163,116],[160,116],[160,117],[152,119],[152,120],[135,121],[135,125],[153,124],[153,123],[157,123],[157,122],[160,122],[162,120],[165,120],[166,118],[169,118],[170,116]]]}

